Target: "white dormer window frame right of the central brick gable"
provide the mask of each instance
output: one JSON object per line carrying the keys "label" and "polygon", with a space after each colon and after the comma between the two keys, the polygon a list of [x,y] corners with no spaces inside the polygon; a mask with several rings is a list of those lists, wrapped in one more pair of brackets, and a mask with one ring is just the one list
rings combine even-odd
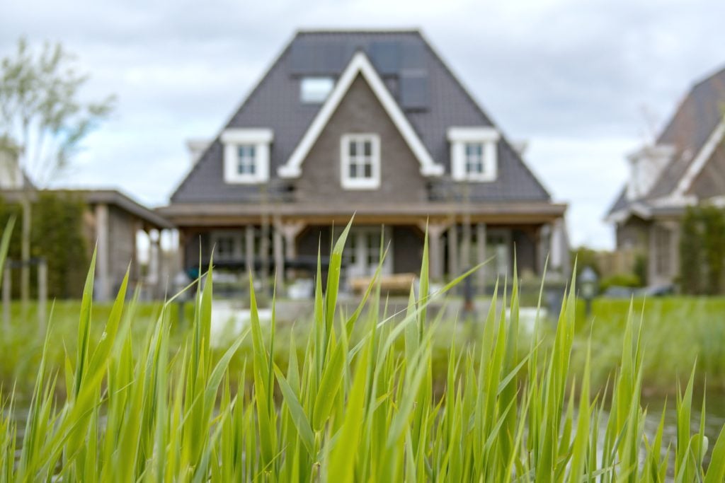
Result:
{"label": "white dormer window frame right of the central brick gable", "polygon": [[[498,177],[498,141],[500,133],[494,127],[450,127],[451,177],[455,181],[491,182]],[[466,146],[481,144],[483,172],[468,172]]]}

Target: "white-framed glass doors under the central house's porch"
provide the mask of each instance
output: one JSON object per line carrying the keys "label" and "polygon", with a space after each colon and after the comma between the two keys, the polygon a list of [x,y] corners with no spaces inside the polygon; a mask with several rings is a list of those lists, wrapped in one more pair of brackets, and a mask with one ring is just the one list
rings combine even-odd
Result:
{"label": "white-framed glass doors under the central house's porch", "polygon": [[[386,251],[383,261],[382,274],[393,273],[392,236],[389,227],[382,230],[383,250]],[[343,265],[347,269],[347,278],[369,277],[373,275],[380,262],[380,227],[352,227],[350,229],[347,246],[342,253]]]}

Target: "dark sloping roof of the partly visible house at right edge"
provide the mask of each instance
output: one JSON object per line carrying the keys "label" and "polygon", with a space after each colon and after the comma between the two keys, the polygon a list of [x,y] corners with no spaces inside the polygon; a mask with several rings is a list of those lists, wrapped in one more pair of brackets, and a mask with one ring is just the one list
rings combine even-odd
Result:
{"label": "dark sloping roof of the partly visible house at right edge", "polygon": [[[692,86],[656,143],[672,146],[674,156],[662,170],[647,196],[639,203],[658,198],[682,198],[694,177],[710,158],[725,133],[725,68]],[[610,208],[609,215],[626,209],[631,201],[626,190]]]}

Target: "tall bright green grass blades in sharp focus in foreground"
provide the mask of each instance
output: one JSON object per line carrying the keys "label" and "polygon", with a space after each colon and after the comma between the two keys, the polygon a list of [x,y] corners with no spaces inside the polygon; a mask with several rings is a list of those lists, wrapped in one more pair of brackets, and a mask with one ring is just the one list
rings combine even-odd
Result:
{"label": "tall bright green grass blades in sharp focus in foreground", "polygon": [[[196,287],[194,324],[181,350],[170,350],[168,303],[143,343],[130,336],[136,302],[125,302],[126,281],[104,335],[91,340],[93,261],[77,352],[60,372],[41,361],[22,437],[12,398],[0,403],[0,482],[723,481],[725,436],[705,471],[703,422],[690,429],[692,380],[676,398],[674,447],[663,448],[663,423],[645,436],[644,350],[632,312],[610,389],[592,394],[591,350],[584,376],[569,382],[574,288],[553,344],[539,353],[537,329],[531,345],[518,347],[514,280],[503,296],[510,318],[494,296],[480,356],[452,348],[444,394],[436,397],[431,340],[439,321],[426,314],[427,243],[421,295],[411,291],[405,314],[378,316],[385,309],[374,282],[352,314],[340,314],[347,231],[334,246],[324,291],[318,269],[307,347],[300,357],[291,345],[285,370],[271,357],[275,318],[260,324],[252,283],[251,324],[212,358],[211,268]],[[353,329],[363,335],[353,338]],[[252,377],[232,384],[228,366],[245,337],[252,338],[245,363]],[[52,343],[51,324],[46,352]],[[56,385],[65,385],[62,404],[54,402]]]}

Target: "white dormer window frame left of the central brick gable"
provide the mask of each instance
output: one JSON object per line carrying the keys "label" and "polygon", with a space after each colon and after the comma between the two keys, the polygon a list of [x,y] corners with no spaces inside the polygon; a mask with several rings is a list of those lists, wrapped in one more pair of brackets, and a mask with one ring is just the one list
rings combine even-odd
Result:
{"label": "white dormer window frame left of the central brick gable", "polygon": [[[221,135],[224,144],[224,181],[228,184],[254,185],[269,180],[271,129],[228,129]],[[254,173],[239,172],[239,148],[254,147]]]}

